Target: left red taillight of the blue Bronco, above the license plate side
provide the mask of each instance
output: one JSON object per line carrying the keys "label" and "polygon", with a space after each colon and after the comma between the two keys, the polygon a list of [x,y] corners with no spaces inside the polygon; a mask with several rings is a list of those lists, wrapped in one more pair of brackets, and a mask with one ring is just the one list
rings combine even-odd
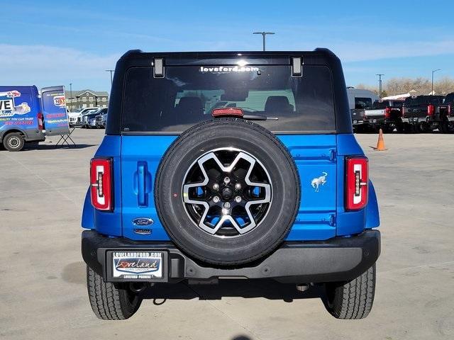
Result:
{"label": "left red taillight of the blue Bronco, above the license plate side", "polygon": [[112,159],[93,158],[90,162],[92,205],[98,210],[113,210]]}

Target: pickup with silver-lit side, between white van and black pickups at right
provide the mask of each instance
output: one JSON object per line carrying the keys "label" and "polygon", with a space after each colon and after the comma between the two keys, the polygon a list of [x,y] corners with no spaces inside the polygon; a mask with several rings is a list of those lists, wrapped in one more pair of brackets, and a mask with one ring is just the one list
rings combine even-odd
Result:
{"label": "pickup with silver-lit side, between white van and black pickups at right", "polygon": [[384,132],[402,132],[402,105],[404,101],[374,101],[372,108],[365,110],[365,122],[372,130],[382,129]]}

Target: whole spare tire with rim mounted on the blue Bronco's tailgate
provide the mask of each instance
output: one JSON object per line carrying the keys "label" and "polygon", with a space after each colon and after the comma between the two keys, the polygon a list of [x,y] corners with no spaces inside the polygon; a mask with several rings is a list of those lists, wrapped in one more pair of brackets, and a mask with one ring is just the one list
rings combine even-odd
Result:
{"label": "whole spare tire with rim mounted on the blue Bronco's tailgate", "polygon": [[221,118],[173,142],[157,171],[155,204],[182,251],[238,265],[279,246],[297,216],[299,191],[294,161],[275,135]]}

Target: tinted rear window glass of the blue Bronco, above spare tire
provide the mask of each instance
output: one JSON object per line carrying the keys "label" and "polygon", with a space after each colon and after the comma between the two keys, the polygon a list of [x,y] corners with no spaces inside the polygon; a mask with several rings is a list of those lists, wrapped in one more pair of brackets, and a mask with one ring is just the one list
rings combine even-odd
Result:
{"label": "tinted rear window glass of the blue Bronco, above spare tire", "polygon": [[303,77],[292,77],[289,66],[166,67],[165,78],[154,78],[153,67],[126,73],[123,132],[179,133],[203,120],[214,108],[242,108],[245,115],[273,132],[336,130],[331,71],[305,66]]}

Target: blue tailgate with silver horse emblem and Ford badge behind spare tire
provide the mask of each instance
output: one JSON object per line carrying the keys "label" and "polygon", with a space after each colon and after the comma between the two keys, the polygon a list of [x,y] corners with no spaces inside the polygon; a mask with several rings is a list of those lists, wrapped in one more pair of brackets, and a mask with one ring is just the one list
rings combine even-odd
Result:
{"label": "blue tailgate with silver horse emblem and Ford badge behind spare tire", "polygon": [[[122,137],[123,236],[131,239],[169,239],[157,217],[153,183],[160,159],[176,137]],[[301,205],[287,239],[328,239],[336,236],[336,135],[279,135],[279,140],[292,154],[301,179]],[[138,221],[141,217],[143,222]]]}

